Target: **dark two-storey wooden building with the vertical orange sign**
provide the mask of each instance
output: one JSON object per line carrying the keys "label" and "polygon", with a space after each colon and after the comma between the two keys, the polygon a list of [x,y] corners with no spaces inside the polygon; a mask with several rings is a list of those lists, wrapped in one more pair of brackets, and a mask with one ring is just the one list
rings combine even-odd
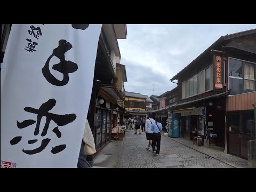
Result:
{"label": "dark two-storey wooden building with the vertical orange sign", "polygon": [[180,114],[181,137],[199,134],[205,146],[218,145],[247,158],[247,140],[255,137],[255,63],[252,29],[220,37],[172,77],[171,81],[178,80],[173,113]]}

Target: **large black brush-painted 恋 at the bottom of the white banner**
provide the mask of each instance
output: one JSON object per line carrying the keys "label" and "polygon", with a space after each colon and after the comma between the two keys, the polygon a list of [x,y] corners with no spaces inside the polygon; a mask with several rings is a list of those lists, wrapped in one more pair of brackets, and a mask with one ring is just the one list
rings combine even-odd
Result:
{"label": "large black brush-painted \u604b at the bottom of the white banner", "polygon": [[[39,134],[39,125],[41,123],[41,119],[42,117],[46,117],[46,122],[44,125],[44,129],[41,133],[41,136],[44,137],[47,134],[47,130],[49,128],[50,122],[51,120],[54,121],[57,125],[59,126],[63,126],[63,125],[67,125],[71,122],[73,122],[76,119],[76,115],[75,114],[66,114],[66,115],[57,115],[57,114],[52,114],[49,113],[49,111],[55,106],[56,104],[56,100],[55,99],[49,99],[48,101],[46,101],[45,103],[43,103],[39,109],[34,109],[31,107],[25,107],[24,110],[29,112],[29,113],[34,113],[37,114],[37,123],[36,121],[34,121],[33,119],[28,119],[25,120],[23,122],[18,122],[17,121],[17,126],[19,129],[23,129],[29,125],[32,125],[34,123],[36,123],[36,128],[34,131],[34,135],[38,135]],[[58,129],[58,126],[55,127],[52,130],[58,138],[61,137],[61,132]],[[10,143],[11,145],[16,145],[17,143],[19,143],[21,141],[21,136],[15,137],[13,138]],[[51,141],[51,139],[46,138],[42,140],[41,146],[33,149],[33,150],[25,150],[23,149],[23,153],[26,153],[28,155],[34,155],[36,153],[40,153],[42,150],[45,149],[45,147],[48,145],[48,143]],[[33,139],[33,140],[29,140],[28,144],[32,144],[37,142],[37,139]],[[56,154],[59,153],[60,151],[64,150],[66,148],[66,145],[59,145],[59,146],[55,146],[52,148],[51,153],[52,154]]]}

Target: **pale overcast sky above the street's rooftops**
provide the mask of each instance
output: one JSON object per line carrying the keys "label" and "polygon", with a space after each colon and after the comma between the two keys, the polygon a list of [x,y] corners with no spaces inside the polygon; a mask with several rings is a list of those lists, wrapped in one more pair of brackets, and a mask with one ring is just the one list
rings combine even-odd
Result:
{"label": "pale overcast sky above the street's rooftops", "polygon": [[161,95],[177,84],[170,79],[218,38],[255,24],[127,24],[127,38],[118,39],[121,64],[125,65],[125,91]]}

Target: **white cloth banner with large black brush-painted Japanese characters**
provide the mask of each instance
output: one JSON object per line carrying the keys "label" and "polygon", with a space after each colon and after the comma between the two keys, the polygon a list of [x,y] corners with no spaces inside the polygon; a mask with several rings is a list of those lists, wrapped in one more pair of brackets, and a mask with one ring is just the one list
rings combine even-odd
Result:
{"label": "white cloth banner with large black brush-painted Japanese characters", "polygon": [[77,167],[101,26],[12,25],[1,70],[1,168]]}

